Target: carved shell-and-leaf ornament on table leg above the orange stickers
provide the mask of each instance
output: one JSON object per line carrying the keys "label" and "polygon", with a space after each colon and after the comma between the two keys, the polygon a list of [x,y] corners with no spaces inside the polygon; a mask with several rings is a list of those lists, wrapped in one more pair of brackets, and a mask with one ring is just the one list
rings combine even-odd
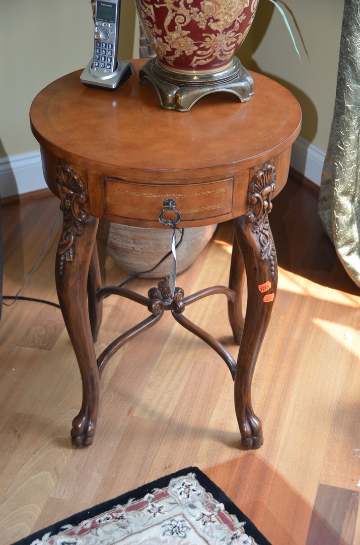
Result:
{"label": "carved shell-and-leaf ornament on table leg above the orange stickers", "polygon": [[270,261],[271,276],[275,275],[276,250],[272,242],[269,217],[272,194],[275,191],[275,167],[266,164],[253,175],[247,193],[246,220],[252,223],[251,231],[259,235],[262,261]]}

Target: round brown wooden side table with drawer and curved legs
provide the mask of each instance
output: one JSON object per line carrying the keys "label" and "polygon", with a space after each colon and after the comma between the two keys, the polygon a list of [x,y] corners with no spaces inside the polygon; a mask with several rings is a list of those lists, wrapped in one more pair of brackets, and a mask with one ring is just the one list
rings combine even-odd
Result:
{"label": "round brown wooden side table with drawer and curved legs", "polygon": [[[280,84],[252,74],[255,94],[249,102],[214,93],[189,112],[167,111],[153,86],[139,83],[143,62],[133,61],[135,76],[114,92],[85,87],[81,71],[61,77],[36,96],[30,110],[46,183],[60,198],[64,213],[55,277],[83,383],[72,442],[92,443],[101,372],[111,355],[170,310],[225,360],[234,380],[242,444],[256,448],[263,434],[252,408],[251,381],[277,286],[268,213],[272,198],[287,181],[291,144],[300,131],[300,107]],[[185,296],[181,288],[170,293],[164,279],[147,297],[125,288],[102,288],[95,244],[99,218],[163,229],[169,229],[166,219],[185,228],[233,220],[228,286]],[[96,359],[94,342],[108,293],[146,305],[150,314]],[[187,305],[213,293],[227,297],[229,323],[240,344],[236,362],[214,337],[184,316]]]}

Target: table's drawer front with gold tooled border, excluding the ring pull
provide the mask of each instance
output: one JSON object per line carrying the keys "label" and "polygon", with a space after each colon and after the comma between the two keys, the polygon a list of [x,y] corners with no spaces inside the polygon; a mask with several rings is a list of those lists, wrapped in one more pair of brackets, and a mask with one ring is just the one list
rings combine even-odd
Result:
{"label": "table's drawer front with gold tooled border, excluding the ring pull", "polygon": [[158,221],[164,199],[173,198],[183,220],[222,216],[232,210],[233,184],[233,178],[161,186],[106,178],[105,214]]}

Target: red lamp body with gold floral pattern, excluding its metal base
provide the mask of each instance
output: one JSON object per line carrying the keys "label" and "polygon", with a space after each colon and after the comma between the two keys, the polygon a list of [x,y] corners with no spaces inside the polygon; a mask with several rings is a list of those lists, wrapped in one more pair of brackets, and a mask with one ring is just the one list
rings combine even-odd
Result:
{"label": "red lamp body with gold floral pattern, excluding its metal base", "polygon": [[166,68],[217,71],[231,63],[258,0],[135,0],[147,39]]}

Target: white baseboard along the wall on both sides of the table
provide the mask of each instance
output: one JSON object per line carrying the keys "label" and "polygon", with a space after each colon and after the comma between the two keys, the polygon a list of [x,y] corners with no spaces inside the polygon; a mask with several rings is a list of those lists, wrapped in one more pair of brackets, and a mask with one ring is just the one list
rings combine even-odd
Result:
{"label": "white baseboard along the wall on both sides of the table", "polygon": [[[293,144],[291,167],[320,185],[325,152],[299,136]],[[0,159],[0,195],[11,197],[46,187],[40,152]]]}

